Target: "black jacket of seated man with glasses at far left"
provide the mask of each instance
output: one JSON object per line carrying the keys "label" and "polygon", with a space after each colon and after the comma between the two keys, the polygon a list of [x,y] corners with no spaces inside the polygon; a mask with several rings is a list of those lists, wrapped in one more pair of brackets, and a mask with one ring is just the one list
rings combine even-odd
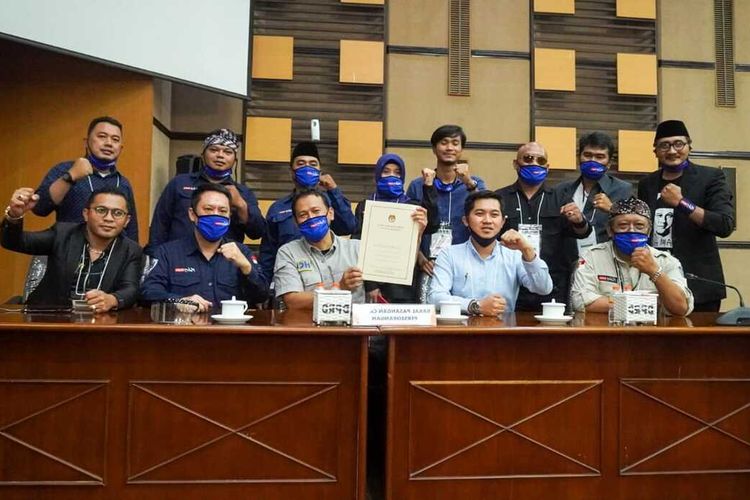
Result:
{"label": "black jacket of seated man with glasses at far left", "polygon": [[[86,243],[86,224],[58,222],[44,231],[26,232],[23,224],[3,220],[0,244],[29,255],[48,255],[47,271],[29,295],[28,304],[64,304]],[[141,278],[141,247],[122,235],[117,237],[101,289],[117,297],[118,308],[135,303]]]}

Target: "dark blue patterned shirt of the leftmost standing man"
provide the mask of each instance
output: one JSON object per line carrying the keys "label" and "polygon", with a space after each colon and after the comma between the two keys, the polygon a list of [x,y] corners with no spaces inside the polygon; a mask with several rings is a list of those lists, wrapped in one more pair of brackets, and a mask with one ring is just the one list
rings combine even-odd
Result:
{"label": "dark blue patterned shirt of the leftmost standing man", "polygon": [[89,201],[91,193],[97,189],[108,187],[116,188],[119,187],[128,199],[128,212],[130,213],[130,222],[123,233],[131,240],[138,242],[138,217],[135,213],[135,198],[133,197],[133,188],[130,183],[117,171],[116,168],[110,170],[106,175],[102,176],[94,168],[94,173],[80,179],[78,182],[70,186],[70,190],[63,198],[59,205],[55,205],[52,201],[52,197],[49,194],[49,187],[57,179],[62,176],[65,172],[70,170],[73,166],[72,161],[65,161],[58,163],[47,172],[47,175],[42,179],[42,183],[36,188],[36,194],[39,195],[39,201],[32,210],[34,214],[40,217],[46,217],[53,211],[56,213],[57,222],[83,222],[83,209],[86,206],[86,202]]}

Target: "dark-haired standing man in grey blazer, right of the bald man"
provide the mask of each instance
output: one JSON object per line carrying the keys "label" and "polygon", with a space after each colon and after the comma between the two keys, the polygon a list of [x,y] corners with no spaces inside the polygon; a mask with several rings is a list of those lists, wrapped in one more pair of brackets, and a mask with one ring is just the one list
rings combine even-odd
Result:
{"label": "dark-haired standing man in grey blazer, right of the bald man", "polygon": [[615,143],[603,132],[591,132],[578,141],[578,161],[581,175],[571,181],[564,181],[555,186],[561,200],[573,200],[583,216],[593,226],[593,232],[583,239],[576,240],[576,245],[568,245],[571,260],[597,243],[609,239],[609,209],[612,203],[630,198],[633,186],[626,181],[612,176],[609,165],[615,154]]}

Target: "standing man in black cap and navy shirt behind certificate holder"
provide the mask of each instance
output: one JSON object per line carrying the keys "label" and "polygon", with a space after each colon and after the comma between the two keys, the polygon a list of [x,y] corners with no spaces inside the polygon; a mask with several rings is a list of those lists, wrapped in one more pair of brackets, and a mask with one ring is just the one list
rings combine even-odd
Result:
{"label": "standing man in black cap and navy shirt behind certificate holder", "polygon": [[292,214],[292,198],[298,190],[322,188],[333,209],[335,219],[331,230],[339,235],[352,234],[357,228],[357,220],[352,213],[352,205],[336,185],[330,174],[321,173],[320,154],[314,142],[300,142],[292,150],[290,174],[294,189],[279,198],[268,208],[266,220],[268,230],[260,244],[260,265],[266,276],[273,276],[274,261],[279,248],[300,237],[300,231]]}

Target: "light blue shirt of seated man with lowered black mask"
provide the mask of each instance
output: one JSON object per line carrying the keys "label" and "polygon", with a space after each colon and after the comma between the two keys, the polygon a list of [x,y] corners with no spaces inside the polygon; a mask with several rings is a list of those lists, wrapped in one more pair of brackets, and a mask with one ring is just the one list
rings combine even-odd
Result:
{"label": "light blue shirt of seated man with lowered black mask", "polygon": [[458,301],[466,312],[472,300],[497,293],[505,299],[506,310],[512,312],[521,285],[539,295],[552,291],[549,268],[538,255],[525,262],[520,251],[498,242],[492,254],[483,259],[469,239],[440,252],[427,300],[436,305],[447,300]]}

